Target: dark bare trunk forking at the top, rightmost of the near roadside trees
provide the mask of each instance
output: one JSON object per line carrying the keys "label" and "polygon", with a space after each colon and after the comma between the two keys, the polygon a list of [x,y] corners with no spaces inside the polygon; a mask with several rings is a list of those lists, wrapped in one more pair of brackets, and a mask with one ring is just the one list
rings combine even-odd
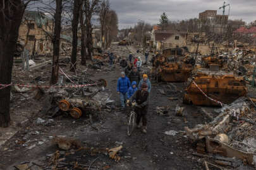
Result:
{"label": "dark bare trunk forking at the top, rightmost of the near roadside trees", "polygon": [[87,59],[92,59],[92,16],[99,10],[99,0],[83,0],[85,13],[85,28],[86,28],[86,45],[87,45]]}

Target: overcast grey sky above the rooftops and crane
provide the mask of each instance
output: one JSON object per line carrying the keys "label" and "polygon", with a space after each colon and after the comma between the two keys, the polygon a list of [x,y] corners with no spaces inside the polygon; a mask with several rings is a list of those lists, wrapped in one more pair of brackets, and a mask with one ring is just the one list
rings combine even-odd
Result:
{"label": "overcast grey sky above the rooftops and crane", "polygon": [[[198,18],[198,14],[207,10],[219,9],[223,0],[110,0],[111,8],[118,13],[119,28],[134,26],[138,19],[154,24],[159,21],[163,12],[169,20],[185,20]],[[243,19],[250,22],[256,20],[256,0],[227,0],[231,5],[229,18]],[[228,8],[226,8],[226,14]]]}

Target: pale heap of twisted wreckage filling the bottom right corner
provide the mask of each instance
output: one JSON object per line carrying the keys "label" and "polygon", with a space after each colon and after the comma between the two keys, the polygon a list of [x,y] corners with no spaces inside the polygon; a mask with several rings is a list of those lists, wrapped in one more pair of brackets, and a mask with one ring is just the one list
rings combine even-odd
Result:
{"label": "pale heap of twisted wreckage filling the bottom right corner", "polygon": [[[255,165],[256,115],[254,104],[250,99],[242,97],[230,105],[217,109],[216,112],[219,115],[210,123],[200,124],[194,128],[185,127],[188,137],[197,143],[198,154],[212,153],[240,159],[241,164]],[[222,165],[232,166],[224,162]],[[226,160],[226,162],[229,161]],[[233,167],[235,167],[234,164]]]}

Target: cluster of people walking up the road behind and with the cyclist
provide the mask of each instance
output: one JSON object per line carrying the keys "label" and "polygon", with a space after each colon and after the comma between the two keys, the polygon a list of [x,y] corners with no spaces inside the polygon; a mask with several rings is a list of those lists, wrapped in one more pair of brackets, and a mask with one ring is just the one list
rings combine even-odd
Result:
{"label": "cluster of people walking up the road behind and with the cyclist", "polygon": [[133,57],[130,54],[129,63],[125,57],[120,62],[121,77],[118,79],[117,92],[120,97],[121,107],[125,109],[126,101],[136,101],[135,112],[137,113],[137,127],[141,128],[140,120],[142,120],[142,132],[147,133],[147,108],[149,105],[149,94],[151,91],[151,82],[147,74],[140,76],[142,60]]}

